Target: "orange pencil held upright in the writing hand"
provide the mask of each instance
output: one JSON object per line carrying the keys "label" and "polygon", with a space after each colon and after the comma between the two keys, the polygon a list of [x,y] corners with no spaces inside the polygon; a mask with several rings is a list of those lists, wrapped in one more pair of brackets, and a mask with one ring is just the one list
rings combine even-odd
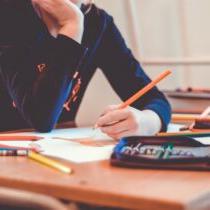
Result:
{"label": "orange pencil held upright in the writing hand", "polygon": [[123,109],[123,108],[126,108],[127,106],[130,106],[132,103],[134,103],[136,100],[138,100],[141,96],[143,96],[148,91],[150,91],[157,83],[159,83],[162,79],[167,77],[169,74],[171,74],[170,70],[166,70],[166,71],[162,72],[156,79],[151,81],[147,86],[145,86],[143,89],[139,90],[137,93],[135,93],[129,99],[127,99],[124,103],[122,103],[119,108]]}

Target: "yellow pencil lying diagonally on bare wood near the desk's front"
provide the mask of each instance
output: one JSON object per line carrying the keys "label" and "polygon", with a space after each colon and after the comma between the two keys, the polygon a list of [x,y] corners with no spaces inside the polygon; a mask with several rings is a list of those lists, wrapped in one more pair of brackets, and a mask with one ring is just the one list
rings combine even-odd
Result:
{"label": "yellow pencil lying diagonally on bare wood near the desk's front", "polygon": [[52,160],[50,158],[47,158],[41,154],[38,154],[33,151],[29,151],[28,157],[34,161],[37,161],[43,165],[49,166],[51,168],[57,169],[58,171],[61,171],[63,173],[71,174],[72,169],[68,166],[65,166],[55,160]]}

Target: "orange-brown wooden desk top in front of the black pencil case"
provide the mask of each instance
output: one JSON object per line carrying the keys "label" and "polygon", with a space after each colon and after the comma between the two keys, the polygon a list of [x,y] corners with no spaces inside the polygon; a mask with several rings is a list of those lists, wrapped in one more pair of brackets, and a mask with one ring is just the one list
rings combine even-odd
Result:
{"label": "orange-brown wooden desk top in front of the black pencil case", "polygon": [[210,172],[123,169],[108,161],[67,164],[73,175],[24,157],[1,157],[0,185],[129,209],[210,209]]}

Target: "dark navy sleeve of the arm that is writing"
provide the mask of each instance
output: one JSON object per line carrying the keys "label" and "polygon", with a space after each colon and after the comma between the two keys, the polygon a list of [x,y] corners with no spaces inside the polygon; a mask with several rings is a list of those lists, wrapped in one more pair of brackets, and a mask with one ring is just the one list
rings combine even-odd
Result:
{"label": "dark navy sleeve of the arm that is writing", "polygon": [[[107,28],[98,50],[98,66],[120,98],[126,100],[151,80],[126,46],[113,18],[106,15],[106,19]],[[167,129],[171,108],[157,87],[137,100],[132,106],[139,110],[153,110],[162,121],[162,131]]]}

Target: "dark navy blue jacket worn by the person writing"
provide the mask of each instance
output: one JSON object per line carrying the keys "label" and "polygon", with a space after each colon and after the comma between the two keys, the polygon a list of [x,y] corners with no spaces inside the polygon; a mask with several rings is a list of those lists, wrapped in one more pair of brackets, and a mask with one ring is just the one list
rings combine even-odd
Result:
{"label": "dark navy blue jacket worn by the person writing", "polygon": [[[98,67],[122,100],[150,82],[110,15],[93,6],[85,15],[84,26],[81,45],[63,35],[54,38],[31,1],[1,1],[1,131],[32,127],[47,132],[58,121],[74,120]],[[79,77],[73,79],[77,71]],[[78,78],[82,80],[80,90],[71,97]],[[70,110],[64,108],[69,97]],[[153,110],[162,120],[162,130],[166,129],[170,105],[157,88],[133,107]]]}

